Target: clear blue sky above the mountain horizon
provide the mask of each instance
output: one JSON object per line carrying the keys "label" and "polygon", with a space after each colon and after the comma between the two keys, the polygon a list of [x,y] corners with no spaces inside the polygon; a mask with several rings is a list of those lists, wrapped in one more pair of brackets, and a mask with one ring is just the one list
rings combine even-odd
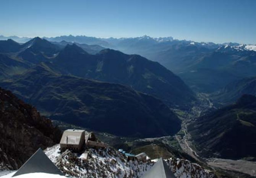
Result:
{"label": "clear blue sky above the mountain horizon", "polygon": [[0,34],[256,44],[256,0],[0,0]]}

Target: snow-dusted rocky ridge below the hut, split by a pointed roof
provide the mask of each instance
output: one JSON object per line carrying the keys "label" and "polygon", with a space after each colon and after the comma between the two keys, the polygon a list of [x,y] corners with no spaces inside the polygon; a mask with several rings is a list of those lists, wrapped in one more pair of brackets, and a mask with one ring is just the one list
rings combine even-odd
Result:
{"label": "snow-dusted rocky ridge below the hut, split by a pointed roof", "polygon": [[[59,152],[55,145],[45,150],[45,154],[68,177],[73,178],[139,178],[149,170],[156,160],[148,162],[128,161],[125,156],[113,148],[87,148],[84,153],[77,154],[70,150]],[[178,178],[213,178],[214,173],[205,170],[198,164],[188,160],[165,160]]]}

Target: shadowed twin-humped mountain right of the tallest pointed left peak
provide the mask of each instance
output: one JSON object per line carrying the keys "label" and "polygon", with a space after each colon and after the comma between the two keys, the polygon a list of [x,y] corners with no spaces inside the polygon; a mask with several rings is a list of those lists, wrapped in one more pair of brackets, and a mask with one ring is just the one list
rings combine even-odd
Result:
{"label": "shadowed twin-humped mountain right of the tallest pointed left peak", "polygon": [[53,63],[79,77],[125,84],[169,105],[185,106],[196,100],[178,76],[139,55],[126,55],[110,49],[90,55],[73,44],[67,45]]}

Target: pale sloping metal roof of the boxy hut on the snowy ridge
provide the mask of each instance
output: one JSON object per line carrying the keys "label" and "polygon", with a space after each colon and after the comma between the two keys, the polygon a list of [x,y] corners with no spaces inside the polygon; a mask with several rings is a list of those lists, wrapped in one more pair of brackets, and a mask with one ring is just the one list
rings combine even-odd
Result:
{"label": "pale sloping metal roof of the boxy hut on the snowy ridge", "polygon": [[60,144],[78,145],[84,130],[67,129],[62,134]]}

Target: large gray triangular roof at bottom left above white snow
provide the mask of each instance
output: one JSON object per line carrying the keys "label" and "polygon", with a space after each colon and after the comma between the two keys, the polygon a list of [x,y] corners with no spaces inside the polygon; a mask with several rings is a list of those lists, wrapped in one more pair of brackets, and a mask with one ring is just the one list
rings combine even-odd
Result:
{"label": "large gray triangular roof at bottom left above white snow", "polygon": [[18,176],[27,173],[50,173],[59,174],[63,173],[55,166],[55,164],[44,154],[43,150],[39,148],[13,175]]}

